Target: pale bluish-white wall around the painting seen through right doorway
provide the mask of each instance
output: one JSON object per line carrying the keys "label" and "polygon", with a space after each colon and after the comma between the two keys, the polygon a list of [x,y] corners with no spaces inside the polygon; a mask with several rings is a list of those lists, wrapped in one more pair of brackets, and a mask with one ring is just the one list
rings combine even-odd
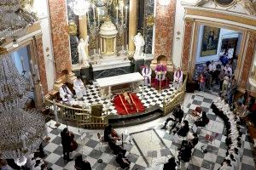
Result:
{"label": "pale bluish-white wall around the painting seen through right doorway", "polygon": [[212,61],[212,60],[218,61],[219,53],[221,50],[222,39],[231,38],[231,37],[239,37],[238,32],[221,28],[219,31],[219,37],[218,37],[217,54],[201,57],[201,45],[202,45],[202,39],[203,39],[204,26],[200,26],[198,31],[199,31],[199,33],[198,33],[198,39],[197,39],[198,43],[197,43],[197,49],[196,49],[195,63],[205,63],[207,61]]}

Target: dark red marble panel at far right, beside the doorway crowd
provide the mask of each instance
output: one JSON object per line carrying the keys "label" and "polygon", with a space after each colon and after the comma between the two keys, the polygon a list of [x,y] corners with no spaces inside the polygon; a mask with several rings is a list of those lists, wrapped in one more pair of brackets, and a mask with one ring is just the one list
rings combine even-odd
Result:
{"label": "dark red marble panel at far right, beside the doorway crowd", "polygon": [[241,81],[239,87],[242,89],[247,88],[247,81],[250,76],[250,68],[253,62],[254,51],[256,48],[256,35],[253,32],[249,32],[245,60],[241,65]]}

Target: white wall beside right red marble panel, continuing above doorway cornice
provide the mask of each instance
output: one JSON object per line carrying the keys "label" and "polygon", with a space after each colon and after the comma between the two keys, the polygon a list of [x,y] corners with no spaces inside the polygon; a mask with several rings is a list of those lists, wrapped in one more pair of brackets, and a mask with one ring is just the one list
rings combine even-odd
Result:
{"label": "white wall beside right red marble panel, continuing above doorway cornice", "polygon": [[[183,0],[186,4],[191,4],[197,2],[197,0]],[[202,8],[215,8],[220,10],[225,10],[226,8],[221,8],[216,6],[215,3],[209,1],[204,4]],[[230,12],[246,14],[244,8],[241,7],[240,4],[236,5],[236,7],[232,7],[227,9]],[[182,59],[182,49],[183,49],[183,30],[184,30],[184,6],[181,4],[181,0],[177,0],[176,3],[176,14],[175,14],[175,26],[174,26],[174,39],[173,39],[173,48],[172,48],[172,60],[175,66],[181,65]],[[180,31],[180,36],[177,36],[177,31]],[[177,40],[177,37],[180,39]]]}

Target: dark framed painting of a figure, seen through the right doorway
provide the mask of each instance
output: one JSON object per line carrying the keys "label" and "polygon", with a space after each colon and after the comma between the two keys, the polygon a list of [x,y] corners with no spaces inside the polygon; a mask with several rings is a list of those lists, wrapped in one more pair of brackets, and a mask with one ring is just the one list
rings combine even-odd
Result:
{"label": "dark framed painting of a figure, seen through the right doorway", "polygon": [[204,26],[201,57],[217,54],[220,28]]}

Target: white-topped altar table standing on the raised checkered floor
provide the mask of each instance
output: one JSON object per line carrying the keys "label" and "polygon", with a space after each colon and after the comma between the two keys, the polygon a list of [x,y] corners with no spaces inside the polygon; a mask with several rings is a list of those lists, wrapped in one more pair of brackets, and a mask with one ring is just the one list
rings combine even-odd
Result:
{"label": "white-topped altar table standing on the raised checkered floor", "polygon": [[123,91],[138,91],[139,85],[144,78],[139,72],[124,74],[114,77],[105,77],[96,79],[100,87],[102,97],[110,94],[118,94]]}

